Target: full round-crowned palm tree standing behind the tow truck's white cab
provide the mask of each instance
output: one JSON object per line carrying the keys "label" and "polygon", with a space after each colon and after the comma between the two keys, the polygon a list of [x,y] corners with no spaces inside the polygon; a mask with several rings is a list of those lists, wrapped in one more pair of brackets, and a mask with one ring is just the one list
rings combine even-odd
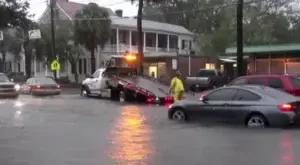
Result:
{"label": "full round-crowned palm tree standing behind the tow truck's white cab", "polygon": [[111,36],[111,20],[105,8],[89,3],[75,15],[75,40],[91,52],[91,69],[96,70],[95,50],[104,48]]}

